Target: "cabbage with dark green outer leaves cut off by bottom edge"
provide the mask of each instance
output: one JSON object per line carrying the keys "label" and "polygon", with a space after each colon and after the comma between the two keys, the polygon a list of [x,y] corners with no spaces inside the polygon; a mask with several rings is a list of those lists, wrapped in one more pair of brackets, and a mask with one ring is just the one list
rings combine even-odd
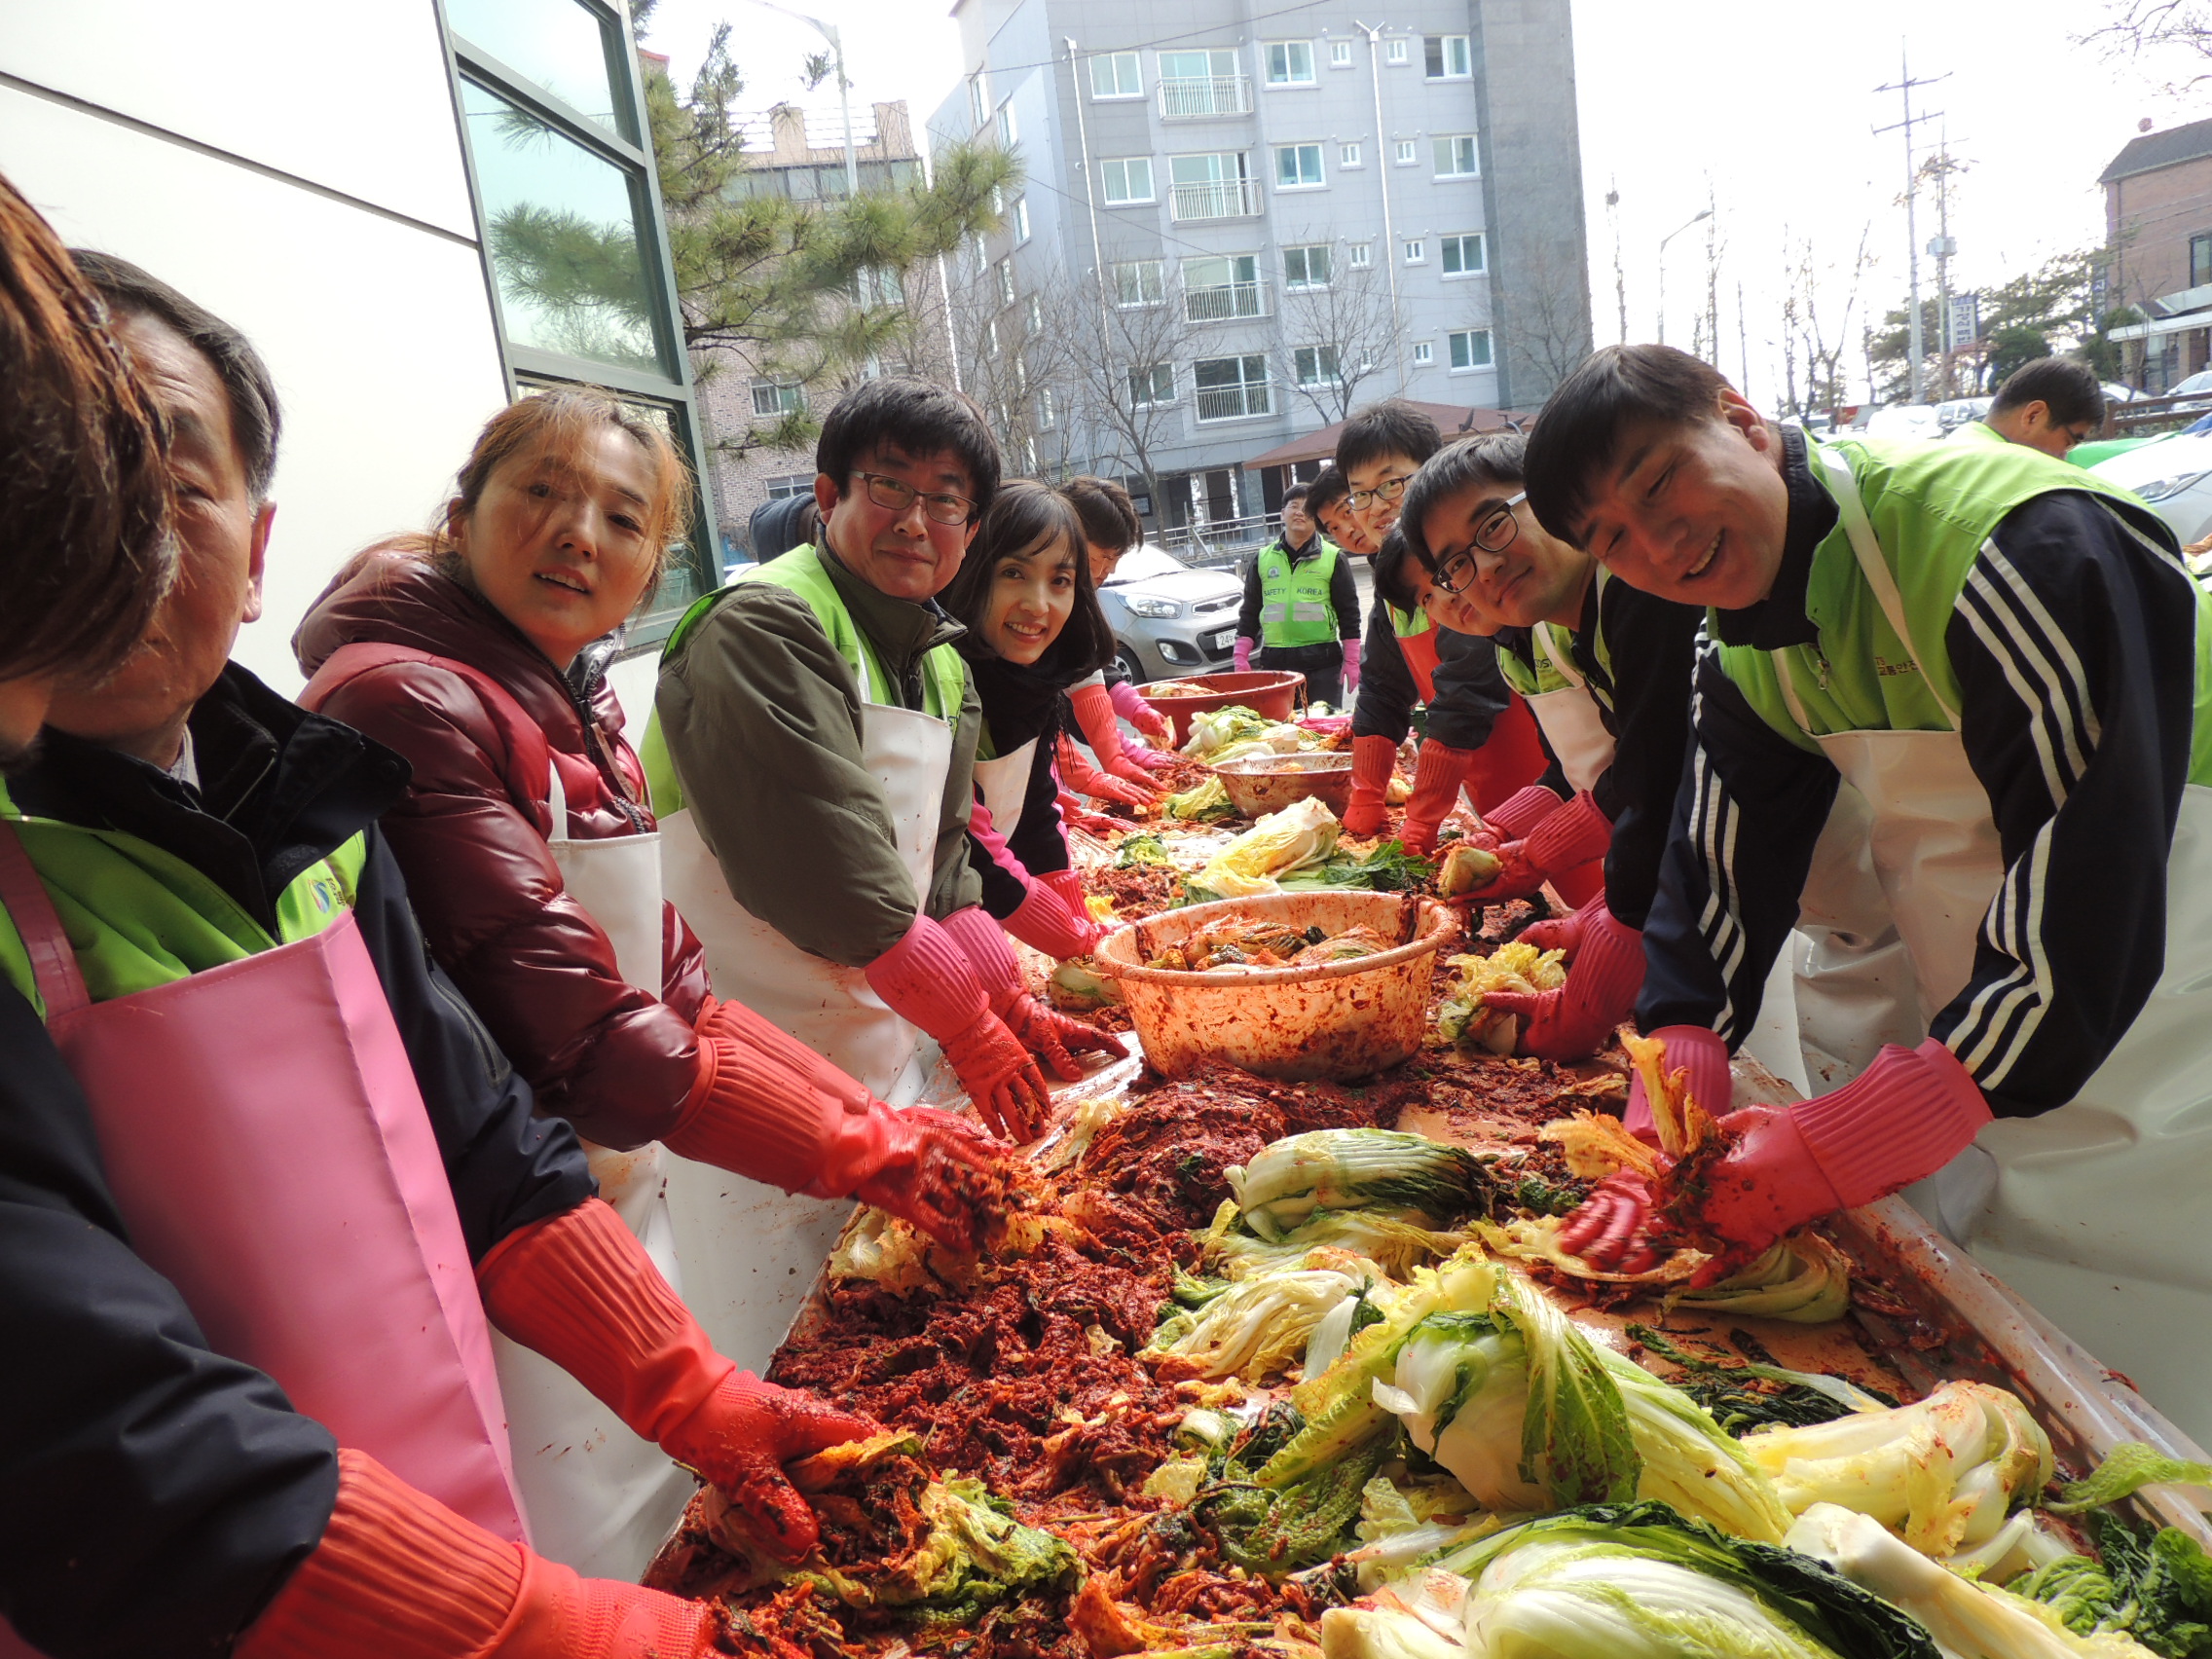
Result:
{"label": "cabbage with dark green outer leaves cut off by bottom edge", "polygon": [[1438,1566],[1475,1575],[1471,1659],[1938,1659],[1847,1577],[1655,1502],[1548,1515]]}

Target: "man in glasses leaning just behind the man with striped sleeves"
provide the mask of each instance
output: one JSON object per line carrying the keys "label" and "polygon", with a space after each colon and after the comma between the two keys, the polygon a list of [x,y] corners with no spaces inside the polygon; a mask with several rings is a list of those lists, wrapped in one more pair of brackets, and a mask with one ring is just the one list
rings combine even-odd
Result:
{"label": "man in glasses leaning just behind the man with striped sleeves", "polygon": [[1467,438],[1413,476],[1398,520],[1411,557],[1396,586],[1436,626],[1495,641],[1498,668],[1555,757],[1493,814],[1526,827],[1498,849],[1498,880],[1471,898],[1520,898],[1604,858],[1604,891],[1522,933],[1566,951],[1566,984],[1491,998],[1522,1018],[1517,1053],[1579,1060],[1635,1011],[1644,984],[1641,929],[1690,741],[1703,613],[1615,582],[1537,524],[1522,453],[1517,434]]}

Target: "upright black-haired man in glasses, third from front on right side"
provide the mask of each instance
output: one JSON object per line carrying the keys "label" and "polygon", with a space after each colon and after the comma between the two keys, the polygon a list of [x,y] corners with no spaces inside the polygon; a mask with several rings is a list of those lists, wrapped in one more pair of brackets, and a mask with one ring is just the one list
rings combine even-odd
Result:
{"label": "upright black-haired man in glasses, third from front on right side", "polygon": [[[1544,739],[1528,706],[1498,672],[1489,639],[1438,628],[1420,606],[1394,604],[1391,573],[1407,557],[1400,540],[1398,500],[1438,449],[1444,434],[1420,409],[1400,398],[1360,409],[1336,438],[1336,465],[1345,473],[1345,507],[1376,544],[1376,602],[1367,611],[1367,644],[1360,650],[1365,679],[1352,710],[1352,801],[1345,830],[1371,836],[1383,830],[1385,792],[1398,763],[1398,745],[1413,728],[1413,710],[1429,706],[1413,792],[1407,799],[1405,845],[1433,852],[1444,816],[1462,787],[1475,812],[1502,836],[1522,836],[1535,821],[1502,812],[1522,790],[1544,776]],[[1451,672],[1444,672],[1444,664]],[[1579,905],[1601,880],[1590,865],[1588,883],[1573,894]]]}

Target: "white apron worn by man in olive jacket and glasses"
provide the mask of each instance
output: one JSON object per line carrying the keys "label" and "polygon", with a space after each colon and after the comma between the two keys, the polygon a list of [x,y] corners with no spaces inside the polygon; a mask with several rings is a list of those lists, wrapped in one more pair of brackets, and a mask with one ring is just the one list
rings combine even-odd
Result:
{"label": "white apron worn by man in olive jacket and glasses", "polygon": [[[898,852],[925,896],[936,874],[951,728],[894,703],[860,706],[860,763],[883,785]],[[922,1093],[920,1031],[883,1004],[860,969],[792,945],[752,916],[721,876],[690,810],[661,818],[666,894],[706,945],[714,995],[743,1002],[894,1106]],[[765,1371],[836,1245],[852,1199],[779,1192],[741,1175],[668,1157],[668,1199],[686,1303],[714,1347]]]}

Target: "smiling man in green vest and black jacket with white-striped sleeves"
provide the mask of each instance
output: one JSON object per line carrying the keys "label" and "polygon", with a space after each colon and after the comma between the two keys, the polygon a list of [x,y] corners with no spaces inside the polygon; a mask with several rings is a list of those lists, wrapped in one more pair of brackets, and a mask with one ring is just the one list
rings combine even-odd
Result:
{"label": "smiling man in green vest and black jacket with white-striped sleeves", "polygon": [[[1801,1000],[1854,1079],[1728,1119],[1717,1267],[1936,1177],[1922,1212],[2212,1431],[2212,608],[2172,535],[2028,445],[1812,442],[1661,345],[1562,383],[1526,489],[1708,608],[1637,1004],[1668,1066],[1728,1106],[1801,911],[1905,945],[1902,984]],[[1562,1243],[1635,1254],[1646,1199]]]}

